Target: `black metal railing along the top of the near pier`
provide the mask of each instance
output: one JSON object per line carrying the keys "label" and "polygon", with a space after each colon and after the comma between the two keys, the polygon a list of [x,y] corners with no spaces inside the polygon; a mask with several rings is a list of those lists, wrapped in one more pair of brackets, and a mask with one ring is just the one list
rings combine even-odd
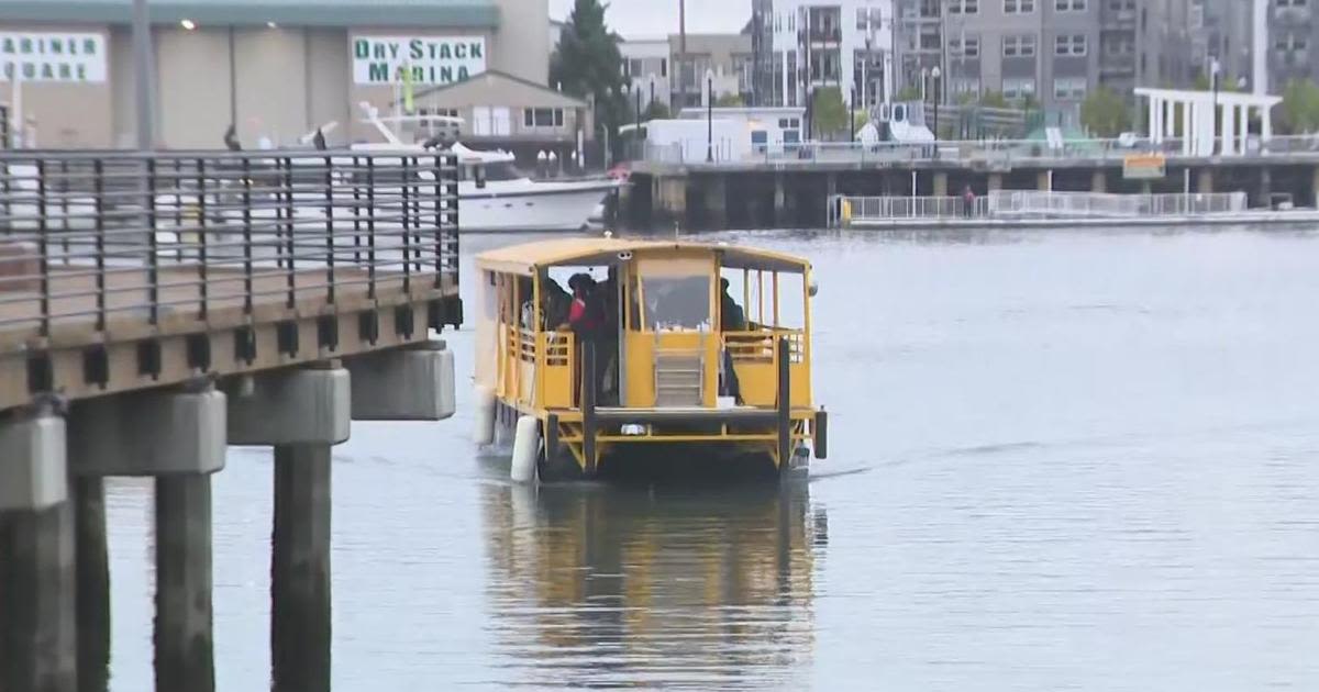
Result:
{"label": "black metal railing along the top of the near pier", "polygon": [[0,355],[61,328],[417,297],[458,268],[448,153],[0,156]]}

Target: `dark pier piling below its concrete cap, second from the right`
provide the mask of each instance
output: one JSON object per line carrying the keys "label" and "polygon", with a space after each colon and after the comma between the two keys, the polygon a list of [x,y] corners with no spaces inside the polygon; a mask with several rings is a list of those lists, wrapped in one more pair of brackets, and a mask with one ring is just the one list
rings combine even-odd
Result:
{"label": "dark pier piling below its concrete cap, second from the right", "polygon": [[215,689],[211,477],[156,478],[156,689]]}

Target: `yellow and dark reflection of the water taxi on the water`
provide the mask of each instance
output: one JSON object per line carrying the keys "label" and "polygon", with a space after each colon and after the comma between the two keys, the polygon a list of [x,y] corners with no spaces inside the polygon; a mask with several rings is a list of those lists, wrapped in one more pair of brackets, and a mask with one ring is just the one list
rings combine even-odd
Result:
{"label": "yellow and dark reflection of the water taxi on the water", "polygon": [[491,486],[504,684],[762,687],[814,656],[827,544],[805,482],[712,493]]}

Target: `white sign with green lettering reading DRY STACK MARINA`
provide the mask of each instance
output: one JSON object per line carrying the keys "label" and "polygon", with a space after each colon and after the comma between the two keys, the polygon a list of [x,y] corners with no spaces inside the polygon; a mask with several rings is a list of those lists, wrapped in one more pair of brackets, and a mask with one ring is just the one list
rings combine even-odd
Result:
{"label": "white sign with green lettering reading DRY STACK MARINA", "polygon": [[352,78],[357,84],[451,84],[485,71],[485,37],[355,36]]}

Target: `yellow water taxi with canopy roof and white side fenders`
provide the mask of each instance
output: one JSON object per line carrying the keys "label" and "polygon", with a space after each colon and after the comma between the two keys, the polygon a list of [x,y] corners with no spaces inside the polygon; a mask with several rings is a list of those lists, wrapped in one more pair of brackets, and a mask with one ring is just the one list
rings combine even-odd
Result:
{"label": "yellow water taxi with canopy roof and white side fenders", "polygon": [[514,480],[663,459],[826,456],[807,260],[743,245],[559,239],[476,257],[476,442]]}

